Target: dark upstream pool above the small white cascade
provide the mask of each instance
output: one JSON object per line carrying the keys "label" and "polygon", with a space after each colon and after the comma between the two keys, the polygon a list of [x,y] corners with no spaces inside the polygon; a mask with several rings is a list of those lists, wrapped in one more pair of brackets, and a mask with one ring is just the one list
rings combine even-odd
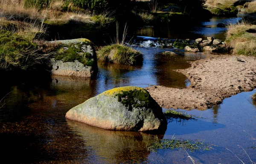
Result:
{"label": "dark upstream pool above the small white cascade", "polygon": [[175,27],[170,25],[170,27],[153,27],[145,26],[137,28],[134,31],[134,35],[137,36],[147,36],[147,37],[160,37],[169,39],[191,39],[195,40],[197,38],[206,39],[207,37],[215,37],[220,40],[225,40],[224,33],[226,28],[217,27],[218,23],[223,23],[225,25],[234,24],[242,19],[243,15],[238,17],[212,17],[209,21],[201,22],[195,27],[180,26]]}

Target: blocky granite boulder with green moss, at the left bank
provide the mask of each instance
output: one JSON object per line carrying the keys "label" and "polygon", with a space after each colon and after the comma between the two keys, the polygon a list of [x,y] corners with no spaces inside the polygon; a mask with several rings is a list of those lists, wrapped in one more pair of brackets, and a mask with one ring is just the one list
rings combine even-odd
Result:
{"label": "blocky granite boulder with green moss, at the left bank", "polygon": [[57,45],[50,60],[53,75],[91,77],[98,71],[96,52],[90,40],[57,40],[48,44]]}

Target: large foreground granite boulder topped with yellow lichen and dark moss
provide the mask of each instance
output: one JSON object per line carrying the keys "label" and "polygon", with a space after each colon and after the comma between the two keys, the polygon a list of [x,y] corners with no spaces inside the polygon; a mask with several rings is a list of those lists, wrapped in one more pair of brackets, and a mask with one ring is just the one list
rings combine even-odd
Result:
{"label": "large foreground granite boulder topped with yellow lichen and dark moss", "polygon": [[107,90],[70,109],[67,119],[110,130],[165,130],[162,108],[139,87]]}

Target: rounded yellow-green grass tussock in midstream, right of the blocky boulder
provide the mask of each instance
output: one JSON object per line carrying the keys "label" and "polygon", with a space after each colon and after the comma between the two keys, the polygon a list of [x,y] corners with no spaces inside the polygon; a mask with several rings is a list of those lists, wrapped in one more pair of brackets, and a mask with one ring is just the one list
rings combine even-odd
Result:
{"label": "rounded yellow-green grass tussock in midstream, right of the blocky boulder", "polygon": [[98,51],[97,57],[105,62],[125,65],[140,65],[143,61],[142,54],[139,51],[120,44],[103,47]]}

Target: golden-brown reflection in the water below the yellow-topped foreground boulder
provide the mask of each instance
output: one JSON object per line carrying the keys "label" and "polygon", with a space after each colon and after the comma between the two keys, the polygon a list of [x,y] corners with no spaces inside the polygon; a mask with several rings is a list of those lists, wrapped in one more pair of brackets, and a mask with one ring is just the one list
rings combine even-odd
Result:
{"label": "golden-brown reflection in the water below the yellow-topped foreground boulder", "polygon": [[82,136],[86,149],[91,149],[93,163],[142,163],[150,153],[147,145],[163,138],[163,135],[105,130],[68,119],[67,123]]}

